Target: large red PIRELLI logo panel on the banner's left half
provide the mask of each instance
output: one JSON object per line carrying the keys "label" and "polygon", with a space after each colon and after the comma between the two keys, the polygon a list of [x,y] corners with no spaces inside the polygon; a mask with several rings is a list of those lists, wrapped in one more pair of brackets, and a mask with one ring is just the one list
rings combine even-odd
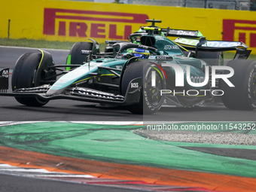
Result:
{"label": "large red PIRELLI logo panel on the banner's left half", "polygon": [[[147,14],[44,8],[44,35],[126,39],[132,24],[145,24],[147,19]],[[117,35],[120,27],[123,35]]]}

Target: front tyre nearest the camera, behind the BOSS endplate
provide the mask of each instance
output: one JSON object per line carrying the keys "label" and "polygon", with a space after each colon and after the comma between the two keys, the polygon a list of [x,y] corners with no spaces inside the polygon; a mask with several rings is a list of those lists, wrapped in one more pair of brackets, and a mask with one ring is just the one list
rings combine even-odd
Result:
{"label": "front tyre nearest the camera, behind the BOSS endplate", "polygon": [[[152,68],[153,66],[153,68]],[[156,72],[157,69],[157,72]],[[155,86],[152,87],[152,72],[154,73]],[[133,114],[154,114],[163,105],[164,96],[160,90],[166,89],[166,81],[161,70],[152,62],[140,60],[131,62],[123,73],[121,93],[124,95],[130,81],[142,78],[143,87],[138,104],[128,105],[126,108]]]}

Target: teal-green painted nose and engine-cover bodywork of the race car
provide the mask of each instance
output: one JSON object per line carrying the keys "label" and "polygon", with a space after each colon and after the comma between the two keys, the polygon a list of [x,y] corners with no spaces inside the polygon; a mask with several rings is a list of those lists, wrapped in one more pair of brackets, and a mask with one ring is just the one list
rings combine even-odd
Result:
{"label": "teal-green painted nose and engine-cover bodywork of the race car", "polygon": [[[162,35],[148,35],[148,37],[154,37],[155,44],[152,45],[152,47],[154,46],[155,48],[157,48],[157,53],[151,54],[151,56],[148,59],[152,62],[159,63],[159,61],[156,59],[156,56],[172,56],[172,61],[168,62],[175,63],[181,66],[181,68],[184,71],[184,85],[187,86],[186,89],[192,88],[187,84],[186,81],[187,66],[190,66],[191,77],[204,78],[204,66],[207,65],[205,62],[203,62],[200,59],[185,57],[180,47],[178,47],[178,45],[175,42],[171,41],[169,38],[163,37]],[[71,87],[82,83],[88,83],[90,79],[93,79],[93,81],[101,81],[101,78],[103,76],[113,75],[106,69],[99,70],[98,67],[102,66],[112,69],[122,69],[124,63],[127,60],[122,59],[122,57],[124,57],[126,53],[130,53],[130,51],[123,50],[122,52],[118,53],[118,55],[115,56],[114,59],[101,58],[94,59],[90,62],[86,62],[81,67],[78,67],[77,69],[74,69],[71,72],[59,78],[59,80],[56,81],[56,83],[54,83],[52,87],[50,87],[50,90],[48,90],[47,95],[62,93],[64,90],[66,90],[67,87]],[[166,71],[169,77],[169,81],[172,81],[172,79],[175,78],[174,69],[172,69],[171,67],[165,67],[164,70]],[[117,73],[120,74],[120,72]],[[172,83],[173,81],[170,82],[170,84]],[[197,87],[197,89],[201,88],[206,87]]]}

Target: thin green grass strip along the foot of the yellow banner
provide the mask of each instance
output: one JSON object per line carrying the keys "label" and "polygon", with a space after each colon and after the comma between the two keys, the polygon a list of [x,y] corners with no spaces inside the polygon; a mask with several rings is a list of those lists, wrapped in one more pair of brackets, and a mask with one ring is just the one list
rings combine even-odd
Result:
{"label": "thin green grass strip along the foot of the yellow banner", "polygon": [[[2,46],[15,46],[15,47],[35,47],[35,48],[49,48],[49,49],[62,49],[70,50],[75,42],[69,41],[44,41],[33,39],[11,39],[0,38],[0,45]],[[100,44],[100,51],[104,51],[106,44]],[[224,59],[233,59],[235,52],[225,52]],[[256,55],[251,54],[248,59],[256,59]]]}

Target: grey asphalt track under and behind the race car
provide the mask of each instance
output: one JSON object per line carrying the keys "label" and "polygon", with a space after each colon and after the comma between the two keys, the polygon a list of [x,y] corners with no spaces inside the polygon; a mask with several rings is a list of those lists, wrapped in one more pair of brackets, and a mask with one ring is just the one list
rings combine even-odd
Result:
{"label": "grey asphalt track under and behind the race car", "polygon": [[[47,50],[47,49],[45,49]],[[0,69],[14,68],[15,62],[35,48],[1,47]],[[56,64],[65,64],[69,50],[47,50]],[[53,100],[41,108],[20,105],[12,97],[1,97],[0,121],[2,120],[152,120],[153,116],[134,115],[123,107],[102,107],[95,103],[72,100]],[[254,121],[256,111],[229,110],[224,105],[202,108],[161,108],[154,114],[155,121]]]}

